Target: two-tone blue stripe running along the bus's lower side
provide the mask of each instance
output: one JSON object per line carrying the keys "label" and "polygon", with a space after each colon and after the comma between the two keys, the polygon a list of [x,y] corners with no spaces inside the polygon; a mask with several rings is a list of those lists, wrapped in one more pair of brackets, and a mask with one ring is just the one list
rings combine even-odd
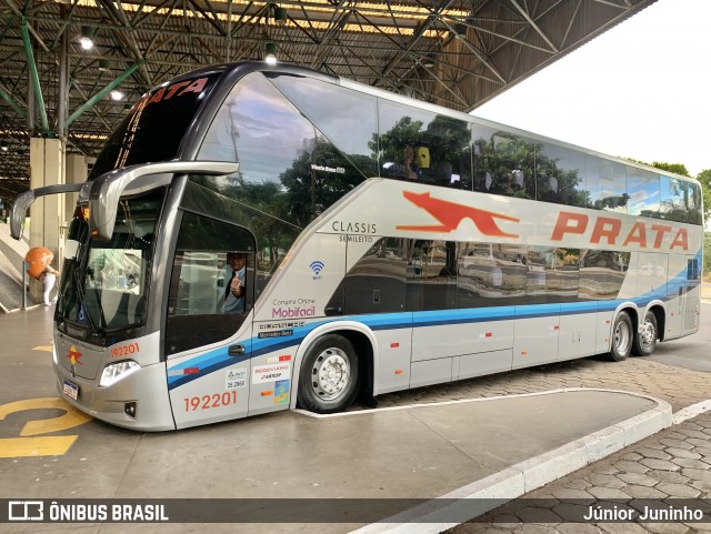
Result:
{"label": "two-tone blue stripe running along the bus's lower side", "polygon": [[[249,359],[257,357],[270,352],[279,351],[298,345],[313,329],[332,322],[342,320],[358,321],[373,331],[398,330],[405,328],[423,328],[447,324],[479,323],[489,321],[509,321],[515,319],[534,319],[554,315],[577,315],[583,313],[612,312],[624,302],[633,302],[638,308],[644,308],[651,301],[669,301],[678,296],[679,289],[690,291],[699,285],[699,282],[689,282],[685,270],[669,280],[665,284],[648,293],[631,299],[615,299],[612,301],[589,301],[569,302],[559,304],[530,304],[518,306],[495,306],[457,310],[432,310],[422,312],[401,312],[385,314],[364,314],[353,316],[339,316],[338,319],[327,319],[314,323],[293,329],[293,334],[277,339],[252,337],[246,344],[251,343],[252,350],[248,354]],[[170,371],[180,371],[189,367],[198,367],[199,372],[179,376],[168,377],[168,389],[173,390],[193,380],[206,376],[220,369],[230,366],[234,359],[227,352],[227,347],[214,349],[210,352],[196,356],[188,362],[181,363]]]}

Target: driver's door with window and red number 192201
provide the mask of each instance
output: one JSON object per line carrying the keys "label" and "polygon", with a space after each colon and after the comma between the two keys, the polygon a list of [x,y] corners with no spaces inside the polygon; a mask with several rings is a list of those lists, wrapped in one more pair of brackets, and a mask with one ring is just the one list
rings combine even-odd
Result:
{"label": "driver's door with window and red number 192201", "polygon": [[163,340],[178,429],[247,415],[254,249],[241,226],[182,216]]}

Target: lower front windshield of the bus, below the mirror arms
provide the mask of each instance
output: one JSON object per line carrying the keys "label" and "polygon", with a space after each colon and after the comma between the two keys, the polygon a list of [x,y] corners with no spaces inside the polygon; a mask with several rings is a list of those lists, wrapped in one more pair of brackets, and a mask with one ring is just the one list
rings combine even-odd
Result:
{"label": "lower front windshield of the bus, below the mirror arms", "polygon": [[[146,319],[152,242],[163,190],[122,200],[110,241],[90,240],[66,264],[57,314],[93,332],[139,325]],[[69,239],[86,241],[83,209],[72,221]],[[82,250],[83,249],[83,250]]]}

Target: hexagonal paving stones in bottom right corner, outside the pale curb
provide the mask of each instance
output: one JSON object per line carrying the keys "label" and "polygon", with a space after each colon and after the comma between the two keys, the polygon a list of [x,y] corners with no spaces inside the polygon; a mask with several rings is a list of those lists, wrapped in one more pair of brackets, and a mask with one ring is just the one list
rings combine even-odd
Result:
{"label": "hexagonal paving stones in bottom right corner, outside the pale curb", "polygon": [[[705,437],[703,437],[705,436]],[[711,532],[711,412],[647,437],[450,534],[690,534]],[[690,454],[693,459],[690,459]],[[697,459],[698,456],[698,459]],[[684,466],[684,462],[698,462]],[[679,463],[681,462],[681,463]],[[601,501],[591,501],[593,495]],[[585,498],[588,501],[585,501]],[[607,502],[605,502],[607,501]],[[590,506],[634,514],[618,522],[583,521]],[[703,522],[639,522],[645,507],[702,513]],[[679,513],[679,512],[678,512]]]}

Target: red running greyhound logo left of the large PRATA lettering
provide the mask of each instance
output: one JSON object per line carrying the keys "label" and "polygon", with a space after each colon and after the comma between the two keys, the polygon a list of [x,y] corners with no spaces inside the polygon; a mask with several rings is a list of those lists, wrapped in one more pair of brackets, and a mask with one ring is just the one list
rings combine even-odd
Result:
{"label": "red running greyhound logo left of the large PRATA lettering", "polygon": [[470,205],[457,204],[454,202],[448,202],[445,200],[433,199],[430,192],[427,193],[413,193],[411,191],[403,191],[402,195],[412,202],[418,208],[422,208],[430,215],[437,219],[441,224],[432,225],[398,225],[398,230],[414,230],[420,232],[451,232],[457,230],[459,224],[464,219],[470,219],[477,229],[484,235],[491,235],[495,238],[518,238],[517,234],[507,233],[499,228],[494,219],[502,219],[504,221],[519,222],[520,219],[515,219],[509,215],[502,215],[501,213],[494,213],[491,211],[479,210]]}

